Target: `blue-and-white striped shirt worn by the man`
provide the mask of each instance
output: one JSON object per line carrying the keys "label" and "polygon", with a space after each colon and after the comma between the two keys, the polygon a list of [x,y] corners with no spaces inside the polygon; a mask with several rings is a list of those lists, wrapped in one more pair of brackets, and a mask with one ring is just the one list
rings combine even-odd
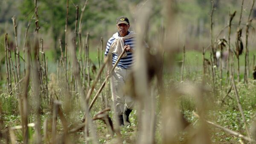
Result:
{"label": "blue-and-white striped shirt worn by the man", "polygon": [[[128,31],[128,34],[130,32]],[[119,35],[119,34],[118,34]],[[105,51],[105,56],[108,54],[109,52],[109,48],[112,44],[112,42],[115,40],[114,37],[111,37],[109,40],[108,40],[108,43],[107,43],[107,47],[106,47],[106,51]],[[125,40],[125,45],[130,45],[131,48],[134,49],[134,46],[135,46],[135,38],[130,38],[130,39],[126,39]],[[133,65],[133,54],[130,52],[130,51],[126,51],[126,54],[127,56],[123,57],[120,59],[120,61],[118,62],[117,64],[117,67],[119,68],[125,68],[125,69],[129,69],[132,67]],[[112,65],[114,65],[116,63],[116,60],[118,59],[118,56],[116,54],[112,54]]]}

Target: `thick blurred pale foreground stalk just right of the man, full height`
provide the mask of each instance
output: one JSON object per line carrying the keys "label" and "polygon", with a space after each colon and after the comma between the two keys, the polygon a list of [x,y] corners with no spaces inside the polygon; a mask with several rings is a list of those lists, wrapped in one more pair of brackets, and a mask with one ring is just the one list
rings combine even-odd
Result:
{"label": "thick blurred pale foreground stalk just right of the man, full height", "polygon": [[[146,1],[147,2],[147,1]],[[146,3],[145,2],[145,3]],[[145,4],[144,3],[144,4]],[[171,2],[172,3],[172,2]],[[143,4],[143,5],[144,5]],[[170,6],[170,3],[166,6]],[[142,6],[143,6],[142,5]],[[147,65],[147,51],[148,49],[144,46],[144,37],[148,32],[148,23],[150,21],[151,8],[153,8],[152,3],[148,2],[145,7],[138,9],[136,16],[136,25],[135,29],[137,31],[136,36],[136,52],[134,52],[134,59],[137,62],[134,63],[134,91],[137,96],[140,115],[138,116],[141,120],[140,131],[138,133],[137,144],[153,144],[155,141],[155,108],[154,108],[154,99],[150,94],[150,86],[148,79],[148,65]],[[172,9],[172,8],[169,8]],[[168,17],[169,18],[169,17]],[[173,17],[172,17],[173,18]],[[157,79],[158,82],[161,79]],[[161,92],[160,92],[161,93]],[[148,98],[148,96],[150,96]],[[142,111],[145,113],[141,113]],[[139,121],[140,121],[139,120]],[[164,123],[164,122],[163,122]],[[165,143],[166,141],[163,141]]]}

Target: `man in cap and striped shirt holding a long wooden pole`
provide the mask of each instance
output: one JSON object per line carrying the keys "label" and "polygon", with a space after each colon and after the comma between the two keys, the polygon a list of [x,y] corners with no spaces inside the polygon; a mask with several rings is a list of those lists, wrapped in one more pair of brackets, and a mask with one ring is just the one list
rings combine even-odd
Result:
{"label": "man in cap and striped shirt holding a long wooden pole", "polygon": [[124,94],[123,89],[131,73],[131,66],[133,64],[135,33],[128,31],[130,22],[125,16],[116,19],[116,28],[118,32],[113,34],[113,37],[108,40],[105,56],[109,52],[112,53],[112,65],[114,65],[122,51],[126,51],[114,69],[110,82],[112,100],[119,125],[129,125],[131,124],[129,115],[134,102],[131,97]]}

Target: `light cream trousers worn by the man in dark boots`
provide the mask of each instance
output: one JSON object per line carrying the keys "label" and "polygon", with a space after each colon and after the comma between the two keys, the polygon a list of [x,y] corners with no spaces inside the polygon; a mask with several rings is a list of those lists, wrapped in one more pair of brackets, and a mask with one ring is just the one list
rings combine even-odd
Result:
{"label": "light cream trousers worn by the man in dark boots", "polygon": [[125,82],[130,74],[131,69],[116,67],[110,79],[112,100],[117,115],[122,115],[125,111],[125,107],[132,109],[134,104],[131,96],[126,96],[124,93]]}

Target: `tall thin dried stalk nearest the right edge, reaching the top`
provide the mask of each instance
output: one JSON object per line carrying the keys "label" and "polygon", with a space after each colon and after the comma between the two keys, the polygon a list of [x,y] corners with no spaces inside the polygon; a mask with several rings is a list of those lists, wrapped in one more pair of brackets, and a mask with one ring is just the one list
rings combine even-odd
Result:
{"label": "tall thin dried stalk nearest the right edge, reaching the top", "polygon": [[251,19],[250,20],[250,15],[251,15],[251,13],[252,13],[252,11],[253,11],[253,6],[254,6],[254,2],[255,2],[255,0],[253,0],[253,4],[252,4],[252,7],[251,7],[251,9],[250,9],[250,14],[249,14],[249,16],[248,16],[248,20],[247,20],[247,23],[246,23],[246,29],[245,29],[245,31],[246,31],[246,37],[245,37],[245,69],[244,69],[244,82],[248,82],[247,81],[247,78],[248,78],[248,76],[249,76],[249,67],[248,67],[248,65],[249,65],[249,49],[248,49],[248,34],[249,34],[249,27],[250,27],[250,24],[251,24],[251,22],[252,22],[252,20],[253,19]]}

